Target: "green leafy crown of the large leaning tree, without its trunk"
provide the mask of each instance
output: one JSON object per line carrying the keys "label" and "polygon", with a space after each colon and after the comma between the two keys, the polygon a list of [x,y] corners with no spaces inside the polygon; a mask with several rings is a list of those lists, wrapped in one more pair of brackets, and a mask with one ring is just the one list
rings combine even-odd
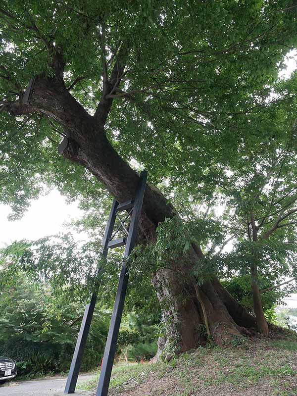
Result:
{"label": "green leafy crown of the large leaning tree, without its trunk", "polygon": [[[104,55],[111,69],[119,46],[129,43],[121,88],[133,92],[133,100],[114,100],[108,138],[125,160],[148,168],[152,182],[169,179],[171,189],[183,185],[188,194],[210,199],[226,180],[224,168],[240,157],[247,164],[246,152],[271,137],[267,117],[261,128],[259,122],[250,127],[249,117],[262,117],[258,110],[265,112],[284,55],[296,44],[296,15],[283,11],[287,6],[284,0],[191,0],[186,6],[180,0],[4,0],[1,100],[18,98],[39,73],[52,77],[52,55],[61,53],[65,85],[81,78],[71,94],[94,113]],[[289,99],[295,91],[279,85],[278,92]],[[16,215],[45,185],[96,207],[106,195],[82,167],[58,156],[62,133],[39,112],[18,118],[1,112],[0,198]]]}

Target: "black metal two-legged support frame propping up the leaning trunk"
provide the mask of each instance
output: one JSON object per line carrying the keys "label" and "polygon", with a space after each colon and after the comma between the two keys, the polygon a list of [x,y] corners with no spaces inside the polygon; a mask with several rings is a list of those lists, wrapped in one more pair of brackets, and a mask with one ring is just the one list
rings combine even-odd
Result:
{"label": "black metal two-legged support frame propping up the leaning trunk", "polygon": [[[115,199],[113,200],[102,241],[102,256],[105,258],[107,257],[108,248],[122,246],[122,245],[126,245],[126,248],[124,253],[124,261],[122,264],[121,274],[119,278],[118,289],[115,297],[113,312],[111,316],[96,396],[107,396],[108,393],[111,370],[116,352],[118,333],[121,324],[124,302],[125,302],[126,291],[129,280],[129,272],[128,272],[128,265],[126,259],[128,258],[133,247],[135,246],[139,219],[142,210],[145,190],[146,190],[147,175],[148,175],[147,171],[141,172],[139,186],[134,201],[130,200],[119,204],[119,202],[117,202]],[[118,214],[118,211],[121,210],[127,210],[127,211],[129,210],[124,220],[122,220],[122,218]],[[131,216],[131,222],[129,225],[129,229],[127,229],[125,226],[125,222],[128,218],[130,218],[130,216]],[[120,225],[116,229],[116,231],[112,234],[116,217],[118,217],[120,221]],[[124,230],[124,232],[127,235],[127,238],[121,237],[114,240],[113,238],[120,229]],[[65,391],[64,391],[65,394],[71,394],[75,392],[79,369],[80,369],[84,349],[86,347],[86,342],[91,326],[96,300],[97,300],[97,294],[93,293],[91,296],[90,303],[87,304],[85,308],[84,317],[80,327],[78,339],[76,342],[76,347],[73,353],[73,358],[65,386]]]}

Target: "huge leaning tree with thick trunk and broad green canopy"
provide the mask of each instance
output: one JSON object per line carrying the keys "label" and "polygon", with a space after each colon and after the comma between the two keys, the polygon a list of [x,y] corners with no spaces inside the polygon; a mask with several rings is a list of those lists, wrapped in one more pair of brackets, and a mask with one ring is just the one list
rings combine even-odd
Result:
{"label": "huge leaning tree with thick trunk and broad green canopy", "polygon": [[[0,35],[2,201],[20,214],[44,182],[83,195],[91,173],[122,202],[135,194],[136,160],[151,182],[143,244],[176,215],[153,183],[212,193],[236,151],[234,120],[263,104],[297,37],[293,2],[255,0],[4,0]],[[195,287],[203,254],[191,249],[173,265],[181,271],[153,276],[169,353],[172,339],[195,347],[206,317],[220,344],[255,326],[216,279]]]}

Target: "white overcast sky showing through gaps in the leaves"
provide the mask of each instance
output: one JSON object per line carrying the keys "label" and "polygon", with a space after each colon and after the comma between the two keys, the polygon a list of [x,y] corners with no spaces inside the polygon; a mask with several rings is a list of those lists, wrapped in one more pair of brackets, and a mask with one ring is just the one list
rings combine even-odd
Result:
{"label": "white overcast sky showing through gaps in the leaves", "polygon": [[[286,69],[280,72],[282,78],[289,78],[292,71],[297,68],[297,50],[288,53],[286,65]],[[68,230],[64,223],[82,216],[78,203],[67,204],[57,190],[32,201],[29,210],[18,221],[8,221],[9,213],[9,206],[0,204],[0,247],[21,239],[36,240],[47,235],[66,232]]]}

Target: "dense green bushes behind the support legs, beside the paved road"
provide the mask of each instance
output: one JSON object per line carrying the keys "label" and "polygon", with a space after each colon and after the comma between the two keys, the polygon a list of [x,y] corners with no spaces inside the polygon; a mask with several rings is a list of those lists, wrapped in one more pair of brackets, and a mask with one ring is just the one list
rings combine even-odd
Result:
{"label": "dense green bushes behind the support legs, beside the paved road", "polygon": [[[53,295],[53,296],[52,296]],[[38,283],[18,272],[0,292],[0,354],[17,361],[21,375],[67,372],[83,316],[84,304],[61,296],[50,284]],[[59,304],[56,306],[56,304]],[[110,321],[110,311],[95,308],[81,369],[99,365]],[[119,351],[130,360],[151,358],[156,352],[156,327],[148,315],[129,313],[122,321]]]}

